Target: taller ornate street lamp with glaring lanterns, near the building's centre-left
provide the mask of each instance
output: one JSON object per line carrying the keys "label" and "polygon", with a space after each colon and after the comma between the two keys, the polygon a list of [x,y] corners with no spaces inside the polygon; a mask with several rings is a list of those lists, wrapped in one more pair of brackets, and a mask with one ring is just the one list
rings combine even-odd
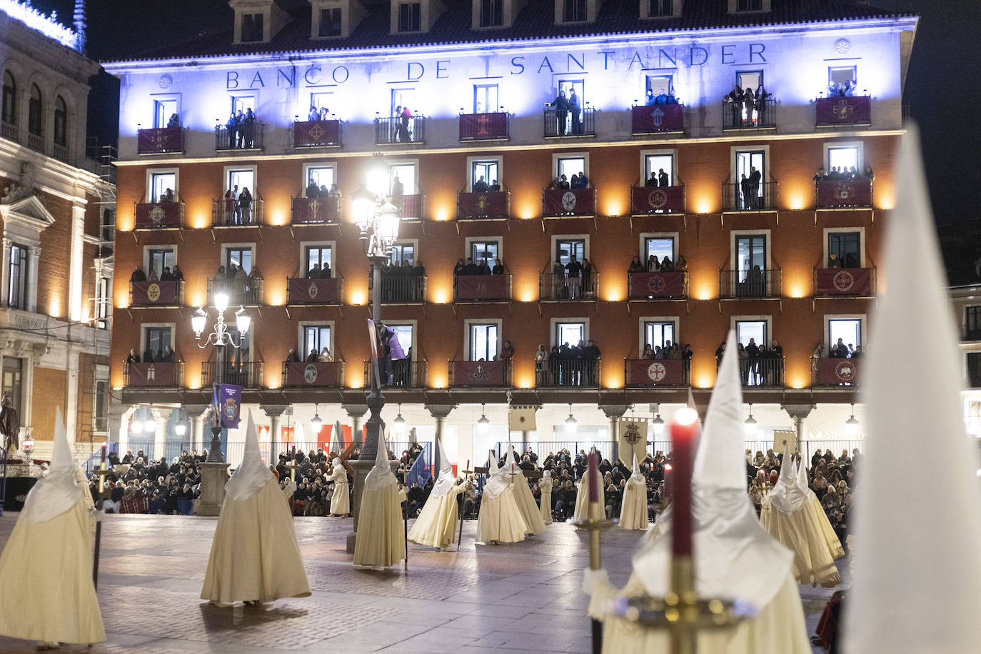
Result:
{"label": "taller ornate street lamp with glaring lanterns, near the building's centre-left", "polygon": [[[371,262],[372,298],[371,317],[375,326],[382,325],[382,267],[391,257],[391,247],[398,238],[400,217],[398,209],[388,197],[388,172],[381,155],[375,155],[367,171],[367,183],[351,194],[351,209],[354,225],[360,230],[361,248]],[[385,396],[379,386],[378,371],[372,371],[371,390],[366,404],[371,417],[365,422],[366,434],[361,455],[351,462],[354,468],[354,531],[347,536],[347,551],[354,551],[357,536],[358,517],[361,509],[361,492],[368,471],[375,465],[378,452],[378,434],[382,430],[382,408]]]}

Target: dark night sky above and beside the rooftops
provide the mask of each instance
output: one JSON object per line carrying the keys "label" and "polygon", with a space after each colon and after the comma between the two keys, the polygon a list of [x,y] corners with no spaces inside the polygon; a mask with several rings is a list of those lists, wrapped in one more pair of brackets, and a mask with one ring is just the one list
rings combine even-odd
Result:
{"label": "dark night sky above and beside the rooftops", "polygon": [[[281,2],[287,7],[307,6],[305,0]],[[31,4],[42,11],[56,10],[63,22],[71,22],[73,0],[32,0]],[[89,56],[95,59],[132,55],[232,19],[225,0],[89,0],[86,4]],[[870,4],[921,17],[904,101],[920,125],[937,223],[981,219],[981,45],[976,34],[981,2],[872,0]],[[111,90],[111,84],[106,86]],[[108,111],[110,105],[111,100],[101,107]],[[108,133],[115,123],[94,127]]]}

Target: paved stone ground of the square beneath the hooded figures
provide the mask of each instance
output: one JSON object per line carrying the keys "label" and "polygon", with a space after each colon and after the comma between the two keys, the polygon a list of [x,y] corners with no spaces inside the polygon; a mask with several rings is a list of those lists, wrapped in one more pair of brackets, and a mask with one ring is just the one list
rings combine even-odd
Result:
{"label": "paved stone ground of the square beneath the hooded figures", "polygon": [[[0,517],[0,543],[16,520]],[[354,569],[344,551],[349,519],[297,518],[312,596],[218,607],[199,598],[215,523],[107,516],[98,591],[107,641],[62,651],[591,651],[580,590],[588,548],[571,526],[556,524],[513,545],[475,546],[477,523],[468,521],[459,553],[410,545],[408,572],[372,572]],[[638,532],[604,533],[603,563],[614,583],[626,581],[640,541]],[[14,591],[2,583],[0,592]],[[801,586],[811,632],[830,594]],[[33,643],[0,637],[0,651],[33,651]]]}

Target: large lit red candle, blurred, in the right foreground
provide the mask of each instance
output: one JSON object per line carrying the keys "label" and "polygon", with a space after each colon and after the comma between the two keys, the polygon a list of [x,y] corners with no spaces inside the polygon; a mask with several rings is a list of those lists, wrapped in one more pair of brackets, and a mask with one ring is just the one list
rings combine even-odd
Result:
{"label": "large lit red candle, blurred, in the right foreground", "polygon": [[671,552],[674,556],[692,556],[692,469],[698,414],[682,409],[671,424]]}

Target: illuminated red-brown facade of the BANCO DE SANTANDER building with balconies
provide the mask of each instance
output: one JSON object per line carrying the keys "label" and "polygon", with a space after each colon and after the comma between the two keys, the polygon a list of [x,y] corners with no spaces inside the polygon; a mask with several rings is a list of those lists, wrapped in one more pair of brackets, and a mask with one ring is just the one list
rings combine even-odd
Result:
{"label": "illuminated red-brown facade of the BANCO DE SANTANDER building with balconies", "polygon": [[[400,411],[432,439],[439,423],[451,458],[483,461],[507,440],[510,397],[542,407],[532,441],[568,440],[569,413],[580,438],[605,440],[626,407],[649,417],[690,385],[706,401],[698,389],[732,327],[782,347],[746,366],[761,438],[846,439],[861,360],[812,353],[839,337],[864,345],[885,283],[876,262],[915,17],[845,1],[230,5],[233,25],[106,64],[122,80],[120,270],[176,263],[183,275],[152,293],[126,276],[114,286],[114,439],[147,441],[130,426],[151,410],[171,418],[158,413],[149,440],[186,421],[199,443],[219,365],[265,409],[267,439],[315,411],[357,428],[375,291],[351,224],[363,183],[400,187],[393,258],[425,266],[381,289],[385,322],[412,348],[386,389],[389,427]],[[737,85],[754,101],[729,101]],[[560,92],[575,107],[563,111]],[[249,109],[254,121],[230,125]],[[821,168],[849,175],[814,179]],[[546,188],[580,173],[586,188]],[[500,191],[475,192],[481,176]],[[340,199],[311,197],[311,181]],[[227,198],[234,186],[250,189],[245,209]],[[573,255],[589,275],[557,274]],[[687,270],[628,274],[650,255]],[[484,257],[504,273],[454,277],[458,260]],[[330,278],[306,278],[325,262]],[[232,282],[253,330],[221,364],[197,348],[189,313],[232,264],[261,278]],[[537,364],[540,345],[580,338],[600,349],[595,367]],[[691,345],[690,366],[642,360],[666,340]],[[493,360],[505,341],[509,364]],[[126,364],[168,344],[176,360],[152,379]],[[331,362],[284,366],[291,348],[302,359],[325,346]]]}

